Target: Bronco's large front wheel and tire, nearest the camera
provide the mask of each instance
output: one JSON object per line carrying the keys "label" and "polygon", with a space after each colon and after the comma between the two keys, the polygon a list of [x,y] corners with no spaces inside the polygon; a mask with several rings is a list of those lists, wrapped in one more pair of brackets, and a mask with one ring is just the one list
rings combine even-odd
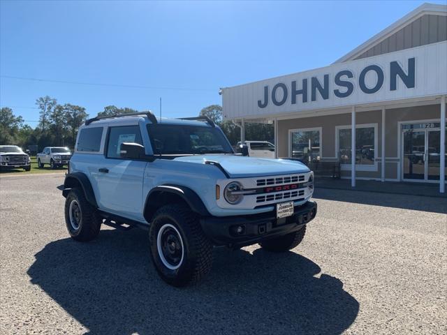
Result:
{"label": "Bronco's large front wheel and tire, nearest the camera", "polygon": [[152,262],[163,281],[184,287],[204,278],[212,266],[212,244],[198,216],[181,204],[161,207],[149,228]]}

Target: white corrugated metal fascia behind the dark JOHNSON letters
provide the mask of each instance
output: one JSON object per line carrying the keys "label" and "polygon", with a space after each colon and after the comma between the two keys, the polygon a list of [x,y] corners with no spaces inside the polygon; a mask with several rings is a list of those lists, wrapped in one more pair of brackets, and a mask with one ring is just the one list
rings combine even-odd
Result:
{"label": "white corrugated metal fascia behind the dark JOHNSON letters", "polygon": [[[397,61],[407,70],[408,59],[416,58],[416,85],[413,89],[408,89],[397,79],[397,90],[390,91],[390,62]],[[398,101],[406,98],[417,98],[423,96],[434,96],[447,94],[447,41],[406,49],[399,52],[382,54],[374,59],[358,59],[346,63],[337,63],[325,68],[317,68],[302,73],[284,75],[277,78],[262,80],[252,84],[244,84],[237,87],[230,87],[223,90],[223,114],[229,118],[238,117],[263,117],[266,115],[289,114],[307,110],[319,110],[330,107],[344,107],[365,103],[377,103],[382,101]],[[375,94],[365,94],[358,86],[358,77],[360,72],[366,66],[376,64],[383,69],[385,80],[381,89]],[[334,77],[340,70],[351,70],[354,83],[353,93],[346,98],[337,98],[333,94],[335,89]],[[320,94],[317,94],[316,101],[311,101],[311,77],[317,77],[322,82],[323,75],[329,74],[329,99],[323,100]],[[370,73],[366,77],[367,84],[374,84],[374,77]],[[308,101],[301,102],[301,96],[298,97],[295,105],[291,104],[291,82],[296,80],[299,86],[304,78],[308,80]],[[271,93],[274,84],[282,82],[288,89],[288,98],[286,103],[276,106],[272,103]],[[258,107],[258,99],[263,99],[263,87],[269,87],[269,101],[265,108]]]}

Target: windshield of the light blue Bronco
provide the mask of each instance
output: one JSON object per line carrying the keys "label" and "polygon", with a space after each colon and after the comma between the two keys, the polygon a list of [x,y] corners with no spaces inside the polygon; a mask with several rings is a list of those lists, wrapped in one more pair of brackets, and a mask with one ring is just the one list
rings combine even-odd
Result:
{"label": "windshield of the light blue Bronco", "polygon": [[233,154],[219,128],[180,124],[148,124],[154,154]]}

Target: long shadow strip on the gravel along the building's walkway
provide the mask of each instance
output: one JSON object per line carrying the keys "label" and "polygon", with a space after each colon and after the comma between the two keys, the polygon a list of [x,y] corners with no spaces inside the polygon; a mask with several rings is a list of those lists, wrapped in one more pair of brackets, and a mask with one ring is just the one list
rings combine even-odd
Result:
{"label": "long shadow strip on the gravel along the building's walkway", "polygon": [[353,202],[356,204],[371,204],[373,206],[395,207],[412,209],[413,211],[431,211],[433,213],[447,214],[446,198],[423,197],[419,195],[375,193],[368,191],[351,191],[330,188],[316,188],[314,198]]}

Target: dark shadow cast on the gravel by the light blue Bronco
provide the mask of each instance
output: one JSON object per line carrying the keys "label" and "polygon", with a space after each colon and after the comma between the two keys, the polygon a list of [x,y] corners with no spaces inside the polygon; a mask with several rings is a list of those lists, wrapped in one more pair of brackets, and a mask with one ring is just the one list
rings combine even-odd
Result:
{"label": "dark shadow cast on the gravel by the light blue Bronco", "polygon": [[184,289],[149,256],[145,231],[102,230],[47,244],[28,274],[87,334],[340,334],[358,314],[342,281],[296,253],[219,248],[210,276]]}

